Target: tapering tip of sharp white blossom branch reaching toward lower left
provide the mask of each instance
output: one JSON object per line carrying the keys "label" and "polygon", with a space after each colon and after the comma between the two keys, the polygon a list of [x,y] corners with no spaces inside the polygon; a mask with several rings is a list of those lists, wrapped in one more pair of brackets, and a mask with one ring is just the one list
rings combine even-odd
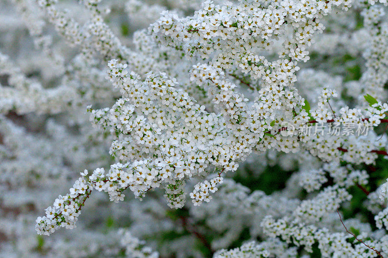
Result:
{"label": "tapering tip of sharp white blossom branch reaching toward lower left", "polygon": [[58,228],[74,228],[81,207],[94,189],[108,193],[114,202],[124,200],[122,192],[127,188],[135,196],[142,197],[149,189],[160,185],[157,171],[161,168],[155,163],[141,160],[132,164],[114,164],[107,174],[103,168],[97,168],[86,177],[88,171],[85,170],[70,188],[70,194],[59,196],[54,205],[46,209],[46,216],[36,219],[36,230],[39,234],[49,235]]}

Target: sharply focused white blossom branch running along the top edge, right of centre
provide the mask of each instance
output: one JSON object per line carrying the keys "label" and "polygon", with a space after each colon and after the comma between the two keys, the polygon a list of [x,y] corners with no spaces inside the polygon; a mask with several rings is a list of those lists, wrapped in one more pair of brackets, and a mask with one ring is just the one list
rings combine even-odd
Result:
{"label": "sharply focused white blossom branch running along the top edge, right of centre", "polygon": [[251,59],[253,48],[268,48],[271,39],[291,25],[293,39],[284,42],[280,57],[307,61],[306,46],[311,44],[315,31],[322,32],[323,29],[319,19],[335,6],[347,9],[349,1],[261,3],[242,0],[237,5],[215,5],[207,0],[193,17],[180,19],[166,13],[150,29],[166,44],[182,46],[192,55],[198,52],[202,58],[222,50],[213,58],[216,67],[227,69],[248,61],[249,66],[255,67],[250,68],[252,75],[260,75],[255,70],[266,65],[259,59]]}

